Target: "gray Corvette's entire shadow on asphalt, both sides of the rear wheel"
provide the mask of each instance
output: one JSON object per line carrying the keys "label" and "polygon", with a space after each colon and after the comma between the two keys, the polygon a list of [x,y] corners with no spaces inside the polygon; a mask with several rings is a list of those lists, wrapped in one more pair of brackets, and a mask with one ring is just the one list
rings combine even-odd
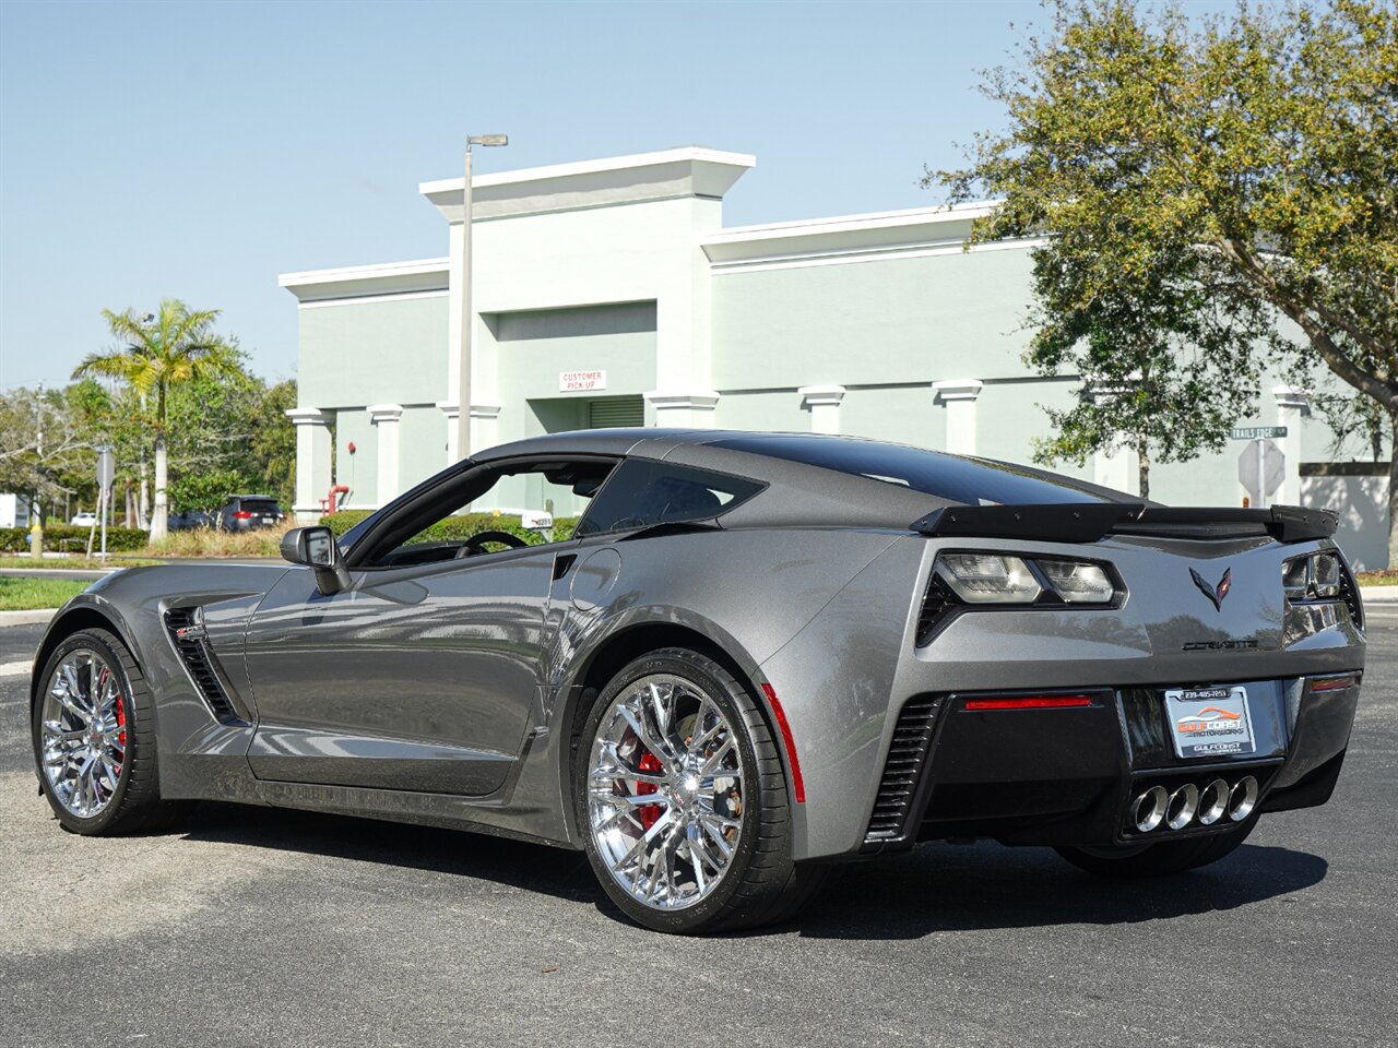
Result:
{"label": "gray Corvette's entire shadow on asphalt, both sides of the rear wheel", "polygon": [[[541,844],[214,802],[196,808],[182,836],[475,878],[591,903],[625,921],[582,852]],[[1327,871],[1318,855],[1244,844],[1188,873],[1111,880],[1069,866],[1048,848],[927,844],[906,855],[836,868],[830,885],[794,919],[742,935],[918,939],[974,929],[1137,924],[1236,910],[1317,885]]]}

